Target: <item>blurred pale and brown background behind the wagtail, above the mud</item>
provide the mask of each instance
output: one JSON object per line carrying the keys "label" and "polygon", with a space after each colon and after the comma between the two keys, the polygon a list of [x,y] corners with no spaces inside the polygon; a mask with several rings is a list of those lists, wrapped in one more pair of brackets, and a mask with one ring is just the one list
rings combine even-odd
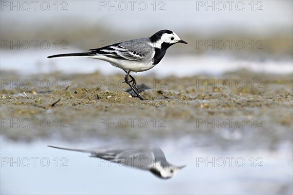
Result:
{"label": "blurred pale and brown background behind the wagtail, above the mud", "polygon": [[[2,70],[120,72],[104,66],[107,63],[100,60],[85,60],[87,66],[81,67],[84,59],[47,60],[45,57],[150,37],[162,29],[174,31],[188,45],[169,48],[167,58],[150,73],[219,74],[239,67],[283,73],[292,70],[292,1],[288,0],[36,3],[3,0],[0,21]],[[24,64],[20,65],[18,60]],[[278,61],[277,65],[266,67],[272,60]],[[215,61],[217,66],[212,64]],[[243,67],[241,61],[257,64]],[[64,66],[64,62],[71,66]],[[178,63],[189,71],[166,70]],[[32,64],[37,67],[31,67]]]}

